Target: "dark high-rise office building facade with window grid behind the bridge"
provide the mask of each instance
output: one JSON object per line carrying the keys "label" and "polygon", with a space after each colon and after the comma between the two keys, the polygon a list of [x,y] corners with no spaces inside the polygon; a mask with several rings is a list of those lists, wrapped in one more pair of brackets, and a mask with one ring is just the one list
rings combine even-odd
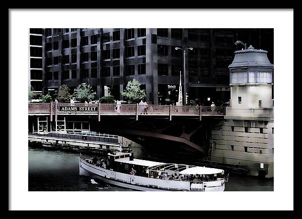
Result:
{"label": "dark high-rise office building facade with window grid behind the bridge", "polygon": [[188,104],[220,104],[230,100],[228,66],[241,48],[234,42],[269,51],[273,63],[273,29],[54,28],[42,29],[41,38],[43,94],[87,83],[97,98],[110,93],[122,100],[127,82],[136,79],[147,103],[175,104],[180,71],[183,77],[183,52],[175,48],[192,47],[182,83]]}

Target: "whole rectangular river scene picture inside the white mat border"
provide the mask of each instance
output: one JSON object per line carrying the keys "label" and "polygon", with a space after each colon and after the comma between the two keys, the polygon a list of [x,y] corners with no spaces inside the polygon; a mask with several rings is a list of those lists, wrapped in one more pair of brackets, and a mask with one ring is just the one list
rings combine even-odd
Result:
{"label": "whole rectangular river scene picture inside the white mat border", "polygon": [[29,191],[273,191],[273,29],[29,38]]}

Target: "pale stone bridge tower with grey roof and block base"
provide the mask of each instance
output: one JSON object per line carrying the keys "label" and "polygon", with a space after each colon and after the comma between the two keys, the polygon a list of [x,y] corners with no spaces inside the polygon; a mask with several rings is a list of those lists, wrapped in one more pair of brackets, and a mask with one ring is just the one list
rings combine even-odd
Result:
{"label": "pale stone bridge tower with grey roof and block base", "polygon": [[273,64],[267,51],[235,51],[231,101],[224,124],[212,130],[210,159],[246,166],[250,175],[273,177]]}

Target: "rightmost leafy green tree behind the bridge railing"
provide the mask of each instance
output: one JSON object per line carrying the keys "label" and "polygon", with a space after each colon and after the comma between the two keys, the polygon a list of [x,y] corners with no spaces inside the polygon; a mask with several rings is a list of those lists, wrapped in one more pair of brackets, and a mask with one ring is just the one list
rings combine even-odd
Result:
{"label": "rightmost leafy green tree behind the bridge railing", "polygon": [[124,96],[127,100],[131,100],[135,103],[138,103],[140,100],[146,97],[145,91],[140,89],[140,84],[135,79],[128,82],[126,86],[126,90],[122,92],[122,96]]}

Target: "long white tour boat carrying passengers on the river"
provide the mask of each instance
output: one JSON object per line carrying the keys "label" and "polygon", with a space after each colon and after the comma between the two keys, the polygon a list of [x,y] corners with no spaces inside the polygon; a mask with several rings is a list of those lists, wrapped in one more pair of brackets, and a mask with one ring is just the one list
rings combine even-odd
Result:
{"label": "long white tour boat carrying passengers on the river", "polygon": [[106,167],[102,167],[102,162],[96,158],[80,155],[80,175],[140,191],[224,190],[224,171],[221,169],[139,160],[131,153],[120,152],[109,153],[104,162]]}

